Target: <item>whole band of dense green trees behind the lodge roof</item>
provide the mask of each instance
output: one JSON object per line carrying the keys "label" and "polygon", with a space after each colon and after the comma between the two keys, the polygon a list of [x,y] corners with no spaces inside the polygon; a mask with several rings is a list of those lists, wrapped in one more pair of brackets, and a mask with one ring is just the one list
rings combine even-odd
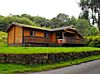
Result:
{"label": "whole band of dense green trees behind the lodge roof", "polygon": [[40,16],[31,16],[28,14],[0,16],[0,31],[6,31],[7,27],[12,22],[18,22],[26,25],[34,25],[46,28],[57,28],[62,26],[73,25],[82,35],[91,36],[97,35],[98,30],[96,27],[91,26],[85,19],[76,19],[69,17],[66,14],[60,13],[52,19],[46,19]]}

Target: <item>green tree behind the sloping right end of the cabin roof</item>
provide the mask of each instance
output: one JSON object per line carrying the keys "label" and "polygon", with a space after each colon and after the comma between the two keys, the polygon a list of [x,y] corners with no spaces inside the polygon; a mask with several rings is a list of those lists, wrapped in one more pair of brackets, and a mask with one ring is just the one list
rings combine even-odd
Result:
{"label": "green tree behind the sloping right end of the cabin roof", "polygon": [[86,19],[76,19],[72,16],[69,24],[73,25],[84,36],[96,35],[98,32],[97,28],[90,25]]}

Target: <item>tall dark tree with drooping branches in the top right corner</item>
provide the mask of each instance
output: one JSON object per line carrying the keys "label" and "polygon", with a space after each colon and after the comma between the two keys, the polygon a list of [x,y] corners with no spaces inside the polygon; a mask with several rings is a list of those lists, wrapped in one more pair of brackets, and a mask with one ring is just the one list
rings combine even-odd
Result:
{"label": "tall dark tree with drooping branches in the top right corner", "polygon": [[100,32],[100,0],[80,0],[79,5],[85,19],[92,19],[92,24],[96,23]]}

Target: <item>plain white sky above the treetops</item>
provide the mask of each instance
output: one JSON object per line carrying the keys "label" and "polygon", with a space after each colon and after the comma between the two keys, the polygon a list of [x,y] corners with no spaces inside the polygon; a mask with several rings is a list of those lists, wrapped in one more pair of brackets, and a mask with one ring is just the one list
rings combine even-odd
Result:
{"label": "plain white sky above the treetops", "polygon": [[0,0],[0,15],[9,14],[42,16],[48,19],[56,17],[59,13],[78,17],[81,9],[80,0]]}

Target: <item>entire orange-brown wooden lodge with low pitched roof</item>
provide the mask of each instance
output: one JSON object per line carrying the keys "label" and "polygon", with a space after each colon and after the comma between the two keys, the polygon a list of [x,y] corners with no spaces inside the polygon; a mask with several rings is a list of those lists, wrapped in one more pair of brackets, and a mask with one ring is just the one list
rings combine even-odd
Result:
{"label": "entire orange-brown wooden lodge with low pitched roof", "polygon": [[9,46],[84,45],[84,38],[73,26],[44,29],[12,23],[7,32]]}

